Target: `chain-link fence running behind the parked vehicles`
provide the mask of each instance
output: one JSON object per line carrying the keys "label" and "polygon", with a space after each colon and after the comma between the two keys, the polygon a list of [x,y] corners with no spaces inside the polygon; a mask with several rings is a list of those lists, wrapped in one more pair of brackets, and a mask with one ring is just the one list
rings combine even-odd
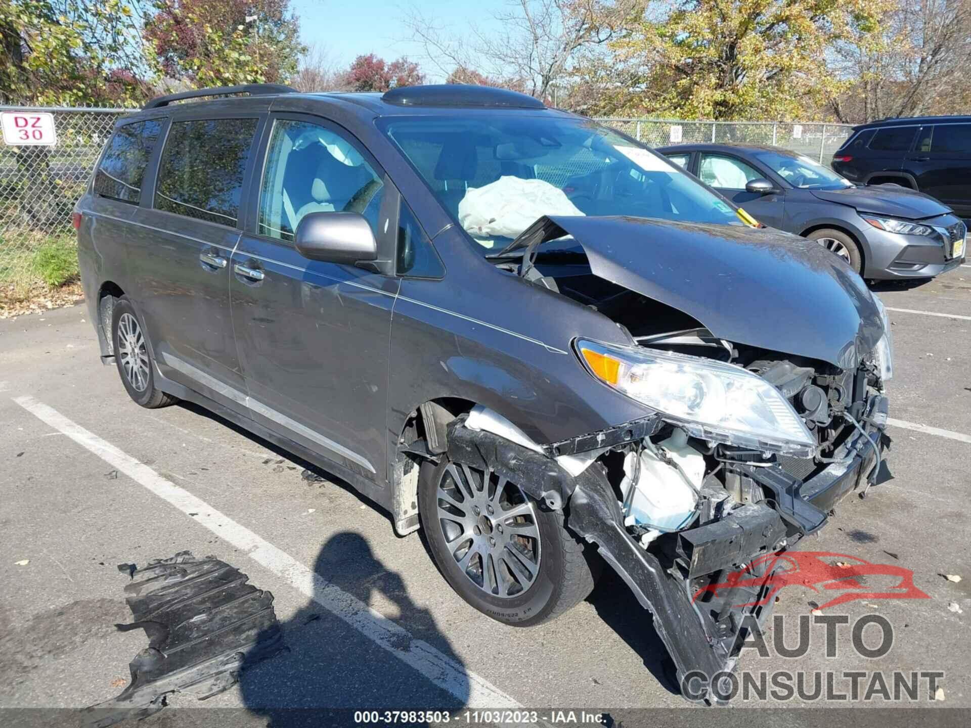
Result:
{"label": "chain-link fence running behind the parked vehicles", "polygon": [[[51,255],[73,256],[71,211],[117,118],[130,109],[0,106],[0,112],[49,112],[57,143],[52,147],[0,145],[0,302],[29,294],[47,281]],[[598,118],[651,147],[690,142],[773,144],[828,164],[850,126],[771,121],[681,121]],[[71,249],[68,249],[71,248]]]}

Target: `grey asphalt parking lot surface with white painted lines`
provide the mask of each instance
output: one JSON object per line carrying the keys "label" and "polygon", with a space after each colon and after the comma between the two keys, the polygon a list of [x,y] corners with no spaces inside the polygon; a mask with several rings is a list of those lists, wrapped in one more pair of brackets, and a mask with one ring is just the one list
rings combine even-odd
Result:
{"label": "grey asphalt parking lot surface with white painted lines", "polygon": [[[800,548],[912,570],[929,598],[833,608],[851,622],[885,616],[893,640],[882,657],[857,654],[844,630],[827,658],[814,626],[798,660],[747,650],[740,669],[941,672],[938,700],[924,691],[918,703],[971,708],[971,266],[876,290],[895,343],[894,479],[848,498]],[[619,579],[605,575],[586,602],[537,628],[491,621],[452,593],[419,535],[396,537],[350,488],[304,477],[305,463],[194,407],[133,404],[101,366],[86,317],[78,306],[0,321],[0,708],[117,695],[146,638],[114,627],[131,621],[116,566],[189,550],[273,592],[289,651],[205,703],[173,697],[180,709],[246,709],[233,722],[252,725],[285,708],[690,710],[666,681],[650,616]],[[828,598],[810,585],[780,597],[777,613],[793,621]],[[896,705],[782,705],[811,702]]]}

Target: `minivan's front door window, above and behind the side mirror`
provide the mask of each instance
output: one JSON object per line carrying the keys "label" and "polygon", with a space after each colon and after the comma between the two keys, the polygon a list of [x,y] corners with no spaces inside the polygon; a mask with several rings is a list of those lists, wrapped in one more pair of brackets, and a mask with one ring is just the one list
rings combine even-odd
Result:
{"label": "minivan's front door window, above and behind the side mirror", "polygon": [[257,232],[292,241],[311,213],[359,213],[378,235],[384,183],[342,135],[318,124],[278,119],[266,158]]}

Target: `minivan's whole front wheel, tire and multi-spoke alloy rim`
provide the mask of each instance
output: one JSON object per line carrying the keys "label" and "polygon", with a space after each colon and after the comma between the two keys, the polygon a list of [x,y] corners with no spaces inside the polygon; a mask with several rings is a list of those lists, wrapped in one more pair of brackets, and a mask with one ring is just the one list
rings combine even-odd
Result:
{"label": "minivan's whole front wheel, tire and multi-spoke alloy rim", "polygon": [[443,455],[419,474],[419,513],[432,558],[458,595],[518,627],[550,621],[593,589],[591,546],[519,486]]}

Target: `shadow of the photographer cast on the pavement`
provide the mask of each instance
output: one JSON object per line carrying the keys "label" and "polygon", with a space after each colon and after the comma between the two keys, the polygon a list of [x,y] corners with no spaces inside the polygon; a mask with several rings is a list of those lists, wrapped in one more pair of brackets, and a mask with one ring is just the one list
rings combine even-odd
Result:
{"label": "shadow of the photographer cast on the pavement", "polygon": [[[314,571],[322,579],[315,586],[318,599],[330,607],[311,600],[281,623],[286,651],[243,671],[240,690],[251,713],[265,716],[274,728],[316,728],[353,725],[358,711],[453,712],[465,707],[469,683],[461,660],[432,615],[412,602],[404,581],[385,569],[363,536],[345,531],[330,537]],[[389,631],[384,620],[375,620],[355,600],[379,602],[407,633]],[[406,664],[400,655],[418,641],[451,659],[456,669],[446,667],[428,677]]]}

